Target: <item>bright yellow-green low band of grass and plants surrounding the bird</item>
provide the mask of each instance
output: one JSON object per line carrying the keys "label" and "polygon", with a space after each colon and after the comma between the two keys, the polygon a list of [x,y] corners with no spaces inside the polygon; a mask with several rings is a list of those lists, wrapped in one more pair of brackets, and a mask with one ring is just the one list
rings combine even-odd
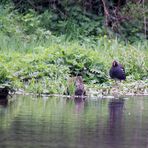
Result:
{"label": "bright yellow-green low band of grass and plants surrounding the bird", "polygon": [[1,50],[1,83],[27,92],[63,94],[69,77],[82,74],[87,86],[107,86],[113,59],[125,65],[127,82],[147,79],[148,51],[144,45],[138,49],[106,37],[98,39],[102,45],[93,47],[86,43],[63,42],[56,37],[49,42],[48,48],[36,47],[38,43],[34,43],[32,51]]}

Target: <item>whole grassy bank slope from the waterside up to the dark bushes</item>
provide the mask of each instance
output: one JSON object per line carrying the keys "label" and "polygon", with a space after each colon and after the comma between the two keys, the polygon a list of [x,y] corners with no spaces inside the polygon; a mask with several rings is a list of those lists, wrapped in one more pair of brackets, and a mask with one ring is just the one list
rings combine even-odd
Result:
{"label": "whole grassy bank slope from the waterside up to the dark bushes", "polygon": [[[55,36],[49,30],[34,26],[36,19],[32,17],[31,27],[36,30],[26,34],[28,26],[20,22],[20,16],[14,17],[14,13],[2,10],[1,85],[26,92],[63,94],[69,87],[69,77],[81,74],[88,87],[108,87],[108,71],[114,59],[125,66],[127,83],[148,79],[147,41],[131,45],[107,36],[69,41],[65,35]],[[27,24],[30,25],[30,16]]]}

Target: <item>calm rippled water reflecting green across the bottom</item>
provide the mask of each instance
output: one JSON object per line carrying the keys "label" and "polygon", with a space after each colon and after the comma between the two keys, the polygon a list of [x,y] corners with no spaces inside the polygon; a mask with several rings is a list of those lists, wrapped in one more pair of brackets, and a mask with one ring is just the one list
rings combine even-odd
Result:
{"label": "calm rippled water reflecting green across the bottom", "polygon": [[0,105],[0,148],[148,148],[148,97],[16,96]]}

